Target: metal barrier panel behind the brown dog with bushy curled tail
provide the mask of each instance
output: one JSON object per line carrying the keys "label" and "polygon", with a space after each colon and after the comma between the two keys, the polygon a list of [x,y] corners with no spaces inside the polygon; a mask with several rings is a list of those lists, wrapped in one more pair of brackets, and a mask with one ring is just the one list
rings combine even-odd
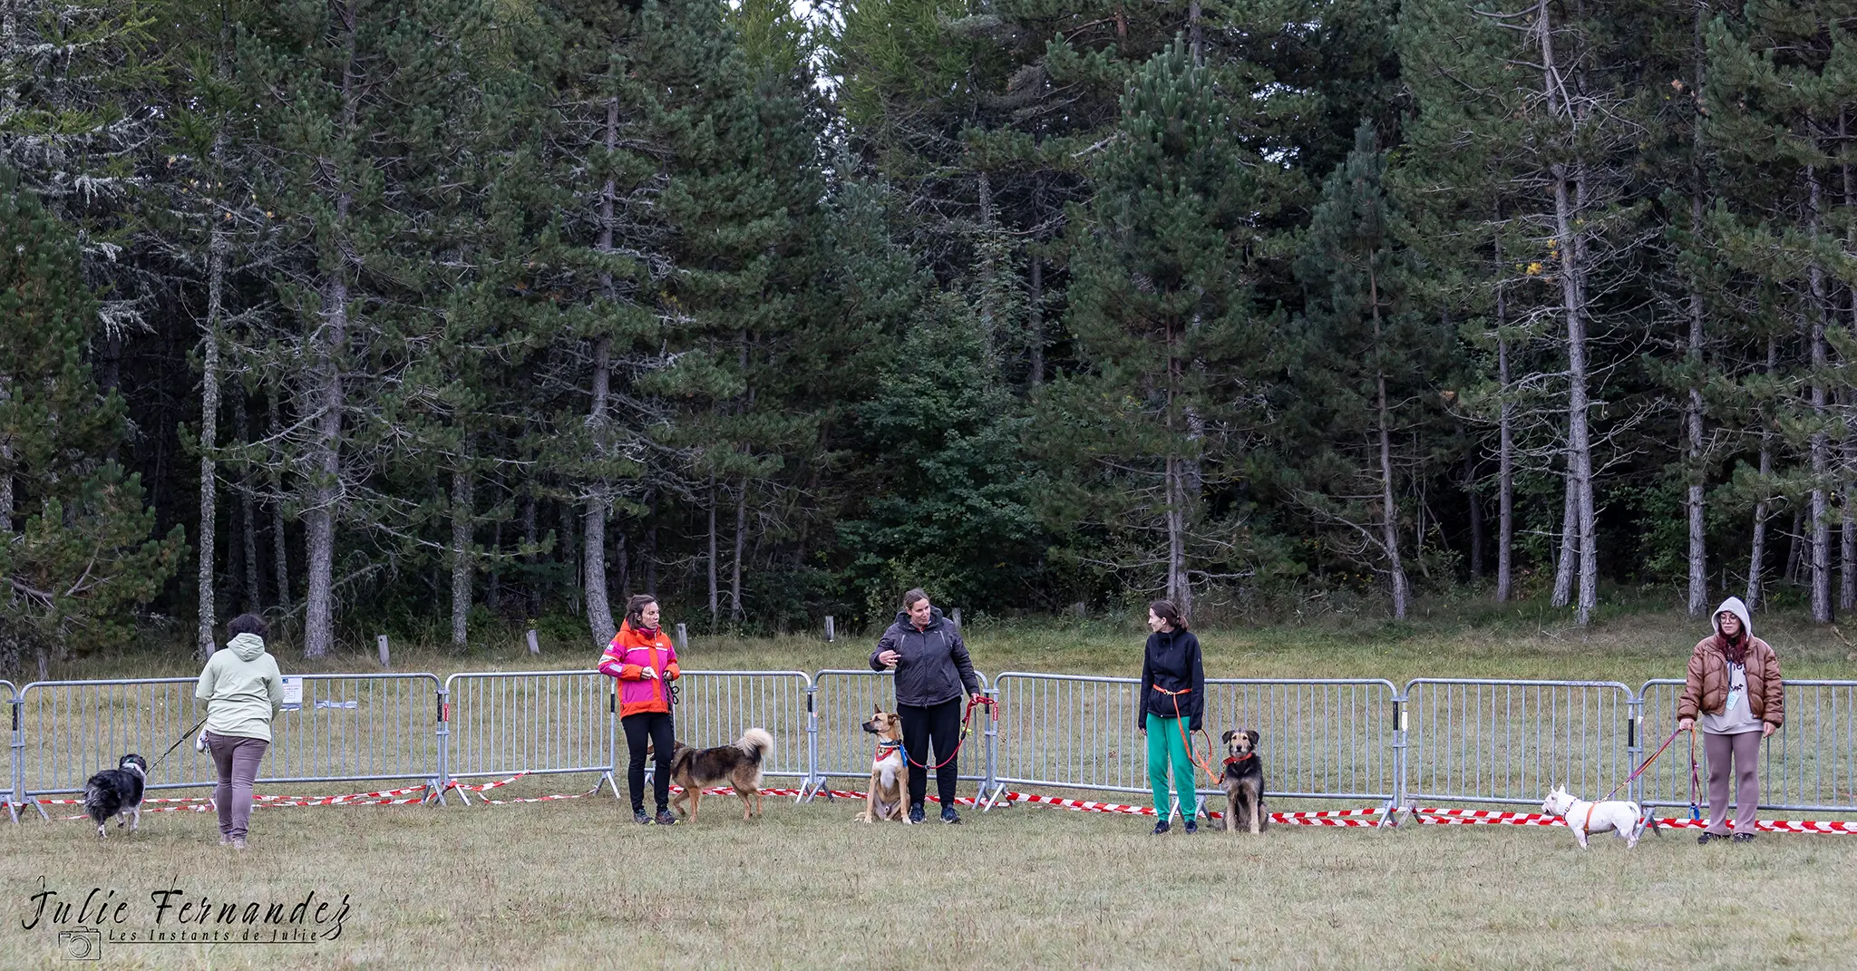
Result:
{"label": "metal barrier panel behind the brown dog with bushy curled tail", "polygon": [[774,737],[774,752],[761,770],[800,780],[810,776],[806,696],[812,678],[806,672],[685,670],[676,683],[678,741],[708,748],[734,743],[747,728],[765,728]]}

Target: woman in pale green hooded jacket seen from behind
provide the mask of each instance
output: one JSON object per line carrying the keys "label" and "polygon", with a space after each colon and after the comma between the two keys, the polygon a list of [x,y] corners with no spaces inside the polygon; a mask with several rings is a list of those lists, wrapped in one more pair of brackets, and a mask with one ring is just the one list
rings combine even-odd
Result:
{"label": "woman in pale green hooded jacket seen from behind", "polygon": [[269,628],[262,616],[234,616],[227,633],[232,639],[206,661],[193,696],[206,702],[206,748],[219,769],[219,787],[214,789],[219,845],[243,850],[251,783],[258,778],[264,750],[271,748],[271,717],[284,704],[284,680],[277,659],[264,650]]}

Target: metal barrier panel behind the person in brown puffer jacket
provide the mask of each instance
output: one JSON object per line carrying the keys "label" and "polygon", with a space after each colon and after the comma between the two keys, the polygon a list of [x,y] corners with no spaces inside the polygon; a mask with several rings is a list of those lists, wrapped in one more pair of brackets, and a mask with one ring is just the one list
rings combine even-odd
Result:
{"label": "metal barrier panel behind the person in brown puffer jacket", "polygon": [[[1786,724],[1760,746],[1760,808],[1786,811],[1857,811],[1857,681],[1785,681]],[[1677,728],[1682,680],[1643,683],[1643,724],[1658,744]],[[1645,806],[1690,804],[1688,741],[1640,778]],[[1695,739],[1699,791],[1708,813],[1708,756]]]}

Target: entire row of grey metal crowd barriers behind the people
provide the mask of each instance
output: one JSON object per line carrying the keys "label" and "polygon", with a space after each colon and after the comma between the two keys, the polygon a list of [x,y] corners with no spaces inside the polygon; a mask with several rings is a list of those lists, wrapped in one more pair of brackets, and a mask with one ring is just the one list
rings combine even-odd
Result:
{"label": "entire row of grey metal crowd barriers behind the people", "polygon": [[[1136,680],[980,680],[999,722],[975,711],[960,778],[980,782],[984,802],[1008,783],[1149,791]],[[273,719],[260,782],[425,780],[442,793],[451,780],[589,772],[620,795],[613,681],[596,670],[292,681],[295,706]],[[711,746],[765,728],[774,735],[765,772],[802,780],[800,798],[810,798],[834,778],[867,778],[873,743],[860,724],[873,707],[895,709],[893,685],[890,672],[849,668],[691,670],[678,681],[678,737]],[[193,678],[0,681],[11,715],[0,776],[9,817],[20,804],[80,793],[126,752],[154,763],[176,741],[191,746],[182,735],[204,717],[193,687]],[[1383,680],[1209,680],[1205,730],[1213,739],[1257,730],[1272,796],[1532,804],[1556,783],[1601,796],[1625,782],[1669,737],[1681,689],[1679,680],[1638,693],[1616,681],[1419,678],[1400,693]],[[1857,681],[1786,681],[1785,691],[1786,726],[1762,750],[1762,809],[1857,811]],[[1686,743],[1673,748],[1630,796],[1688,804]],[[1211,756],[1216,765],[1224,752]],[[149,780],[150,789],[212,783],[210,759],[191,750],[158,761]]]}

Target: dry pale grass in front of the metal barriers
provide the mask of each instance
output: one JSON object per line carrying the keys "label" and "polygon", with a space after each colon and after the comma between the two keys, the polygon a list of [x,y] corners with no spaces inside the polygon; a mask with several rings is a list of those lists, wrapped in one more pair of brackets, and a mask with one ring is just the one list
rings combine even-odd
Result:
{"label": "dry pale grass in front of the metal barriers", "polygon": [[[566,780],[563,780],[566,782]],[[722,809],[732,800],[709,806]],[[39,878],[189,893],[349,893],[334,943],[106,945],[113,967],[1850,967],[1857,837],[1762,835],[1580,852],[1558,828],[1279,826],[1146,835],[1127,817],[1018,806],[964,826],[862,826],[838,804],[752,824],[624,822],[609,795],[503,808],[256,813],[212,845],[163,813],[98,845],[80,822],[0,832],[6,967],[58,962],[22,930]],[[143,921],[147,923],[147,921]],[[914,956],[914,958],[912,958]],[[78,965],[82,967],[82,965]]]}

